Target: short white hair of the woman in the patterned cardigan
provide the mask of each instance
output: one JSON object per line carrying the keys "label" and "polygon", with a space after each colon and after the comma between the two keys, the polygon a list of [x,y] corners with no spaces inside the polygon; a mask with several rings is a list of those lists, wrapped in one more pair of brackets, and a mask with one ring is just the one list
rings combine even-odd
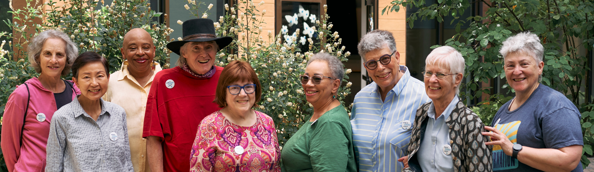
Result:
{"label": "short white hair of the woman in the patterned cardigan", "polygon": [[[450,69],[450,74],[464,74],[465,60],[462,54],[450,46],[441,46],[433,49],[425,59],[425,69],[427,65],[437,65]],[[456,83],[456,76],[452,75],[453,82]],[[460,81],[462,84],[462,81]],[[457,86],[460,86],[458,84]],[[456,89],[456,94],[460,93],[460,88]]]}

